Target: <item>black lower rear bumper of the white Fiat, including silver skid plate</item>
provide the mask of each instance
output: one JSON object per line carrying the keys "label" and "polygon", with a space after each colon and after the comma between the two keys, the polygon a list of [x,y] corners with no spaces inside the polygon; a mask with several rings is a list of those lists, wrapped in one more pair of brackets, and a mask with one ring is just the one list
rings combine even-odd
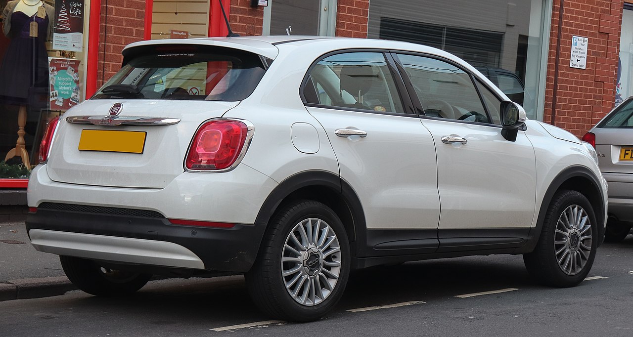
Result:
{"label": "black lower rear bumper of the white Fiat, including silver skid plate", "polygon": [[[54,205],[54,204],[53,204]],[[263,226],[205,228],[166,218],[39,208],[27,231],[41,252],[123,264],[245,273],[253,266]]]}

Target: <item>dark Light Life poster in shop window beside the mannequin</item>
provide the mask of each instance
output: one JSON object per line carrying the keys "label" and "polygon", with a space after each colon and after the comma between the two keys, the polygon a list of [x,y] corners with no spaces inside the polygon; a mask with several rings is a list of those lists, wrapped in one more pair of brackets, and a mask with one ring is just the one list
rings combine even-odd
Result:
{"label": "dark Light Life poster in shop window beside the mannequin", "polygon": [[84,44],[84,0],[55,1],[53,49],[82,51]]}

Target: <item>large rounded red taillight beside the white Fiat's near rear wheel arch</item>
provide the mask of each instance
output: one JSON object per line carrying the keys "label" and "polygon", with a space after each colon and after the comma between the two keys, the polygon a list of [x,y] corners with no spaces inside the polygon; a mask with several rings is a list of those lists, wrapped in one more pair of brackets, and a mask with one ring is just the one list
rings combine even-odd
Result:
{"label": "large rounded red taillight beside the white Fiat's near rear wheel arch", "polygon": [[230,168],[242,152],[248,126],[235,120],[213,120],[200,126],[194,136],[185,168],[214,170]]}

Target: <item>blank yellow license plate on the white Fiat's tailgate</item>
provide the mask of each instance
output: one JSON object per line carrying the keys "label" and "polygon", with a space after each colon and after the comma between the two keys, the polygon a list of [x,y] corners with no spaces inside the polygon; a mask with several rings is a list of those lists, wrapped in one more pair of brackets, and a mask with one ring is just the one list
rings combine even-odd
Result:
{"label": "blank yellow license plate on the white Fiat's tailgate", "polygon": [[82,130],[80,151],[143,153],[147,132]]}

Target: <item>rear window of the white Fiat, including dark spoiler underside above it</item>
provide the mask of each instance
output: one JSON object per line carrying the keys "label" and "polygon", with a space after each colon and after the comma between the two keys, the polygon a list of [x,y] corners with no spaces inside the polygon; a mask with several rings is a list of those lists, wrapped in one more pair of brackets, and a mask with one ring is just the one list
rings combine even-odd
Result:
{"label": "rear window of the white Fiat, including dark spoiler underside above it", "polygon": [[241,101],[265,73],[259,55],[225,47],[143,46],[123,54],[123,68],[92,99]]}

